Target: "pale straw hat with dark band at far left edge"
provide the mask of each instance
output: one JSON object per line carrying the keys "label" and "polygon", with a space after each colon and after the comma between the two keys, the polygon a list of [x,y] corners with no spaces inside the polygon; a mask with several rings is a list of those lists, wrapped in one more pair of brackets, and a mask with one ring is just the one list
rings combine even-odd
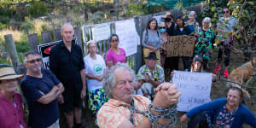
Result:
{"label": "pale straw hat with dark band at far left edge", "polygon": [[0,80],[22,79],[23,75],[17,75],[13,67],[4,67],[0,69]]}

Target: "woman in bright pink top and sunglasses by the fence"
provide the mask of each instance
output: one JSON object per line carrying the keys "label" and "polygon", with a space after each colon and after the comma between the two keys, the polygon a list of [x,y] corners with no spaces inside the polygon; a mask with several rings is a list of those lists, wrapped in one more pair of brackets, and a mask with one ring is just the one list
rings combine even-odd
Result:
{"label": "woman in bright pink top and sunglasses by the fence", "polygon": [[125,49],[119,48],[119,36],[117,34],[112,34],[108,40],[110,44],[110,49],[105,57],[108,68],[114,66],[118,61],[126,62]]}

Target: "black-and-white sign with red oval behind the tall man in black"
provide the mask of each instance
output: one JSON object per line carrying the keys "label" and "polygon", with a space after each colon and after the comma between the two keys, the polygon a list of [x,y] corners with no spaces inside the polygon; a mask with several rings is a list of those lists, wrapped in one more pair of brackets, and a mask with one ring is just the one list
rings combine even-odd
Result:
{"label": "black-and-white sign with red oval behind the tall man in black", "polygon": [[[75,44],[78,44],[77,38],[73,38],[73,41],[75,41]],[[49,52],[50,49],[52,49],[56,44],[61,43],[61,40],[51,42],[48,44],[40,44],[38,45],[38,51],[39,54],[42,57],[42,67],[43,69],[49,69]]]}

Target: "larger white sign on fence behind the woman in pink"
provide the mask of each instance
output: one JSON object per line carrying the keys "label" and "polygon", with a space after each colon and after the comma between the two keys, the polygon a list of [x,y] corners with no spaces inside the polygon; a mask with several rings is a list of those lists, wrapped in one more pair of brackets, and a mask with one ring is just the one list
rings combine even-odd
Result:
{"label": "larger white sign on fence behind the woman in pink", "polygon": [[115,32],[119,35],[119,48],[125,49],[126,56],[137,53],[140,37],[137,34],[134,19],[116,21]]}

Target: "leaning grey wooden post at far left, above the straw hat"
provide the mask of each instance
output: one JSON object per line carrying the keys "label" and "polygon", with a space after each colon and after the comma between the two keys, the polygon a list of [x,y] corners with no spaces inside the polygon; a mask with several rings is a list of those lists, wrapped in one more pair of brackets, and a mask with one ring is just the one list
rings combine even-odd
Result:
{"label": "leaning grey wooden post at far left, above the straw hat", "polygon": [[12,60],[13,67],[18,67],[20,61],[17,55],[17,50],[15,47],[15,41],[14,41],[13,35],[12,34],[4,35],[4,40],[5,40],[10,58]]}

